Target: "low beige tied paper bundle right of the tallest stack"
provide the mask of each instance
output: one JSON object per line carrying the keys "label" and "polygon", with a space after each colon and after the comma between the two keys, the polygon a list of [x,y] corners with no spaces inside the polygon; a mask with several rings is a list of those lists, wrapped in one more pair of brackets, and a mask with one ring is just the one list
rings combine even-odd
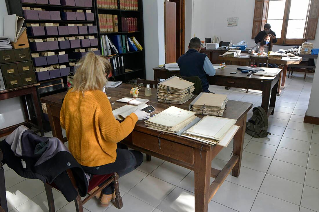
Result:
{"label": "low beige tied paper bundle right of the tallest stack", "polygon": [[227,95],[200,93],[189,105],[189,110],[201,115],[223,116]]}

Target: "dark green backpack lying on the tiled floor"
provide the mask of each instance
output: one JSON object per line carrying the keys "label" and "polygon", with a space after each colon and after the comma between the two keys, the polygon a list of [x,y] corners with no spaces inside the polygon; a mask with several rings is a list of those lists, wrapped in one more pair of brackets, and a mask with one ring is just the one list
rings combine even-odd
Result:
{"label": "dark green backpack lying on the tiled floor", "polygon": [[246,123],[246,133],[252,137],[262,138],[271,133],[267,132],[268,117],[262,107],[253,108],[253,116]]}

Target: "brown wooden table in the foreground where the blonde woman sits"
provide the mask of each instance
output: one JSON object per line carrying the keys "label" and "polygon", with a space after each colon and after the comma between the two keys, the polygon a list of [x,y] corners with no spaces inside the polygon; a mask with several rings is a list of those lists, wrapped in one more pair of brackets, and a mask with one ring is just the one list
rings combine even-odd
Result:
{"label": "brown wooden table in the foreground where the blonde woman sits", "polygon": [[[131,85],[122,84],[117,88],[108,88],[106,93],[111,97],[110,102],[113,103],[117,99],[129,97]],[[62,106],[62,98],[66,92],[54,94],[41,98],[42,102],[47,104],[48,116],[54,137],[63,139],[60,125],[60,109]],[[139,98],[149,98],[149,105],[154,106],[156,112],[165,110],[168,104],[158,103],[156,99],[156,90],[152,89],[152,96],[145,97],[144,91],[138,95]],[[174,105],[182,109],[189,109],[190,99],[183,105]],[[115,102],[112,109],[119,108],[124,103]],[[221,184],[224,182],[230,172],[232,176],[238,177],[241,167],[241,156],[244,143],[244,135],[246,128],[247,112],[252,108],[251,103],[229,100],[227,109],[223,117],[237,120],[236,125],[240,129],[234,136],[234,152],[232,158],[227,162],[222,170],[211,168],[211,161],[224,148],[219,145],[208,145],[186,137],[175,134],[163,133],[155,130],[147,129],[144,121],[138,121],[133,132],[122,142],[132,149],[139,150],[143,153],[155,156],[165,161],[172,162],[195,172],[195,211],[207,212],[208,203],[215,195]],[[203,117],[200,116],[199,117]],[[160,139],[160,148],[159,148]],[[210,185],[210,177],[215,180]],[[160,188],[159,188],[160,189]],[[124,203],[125,204],[125,203]]]}

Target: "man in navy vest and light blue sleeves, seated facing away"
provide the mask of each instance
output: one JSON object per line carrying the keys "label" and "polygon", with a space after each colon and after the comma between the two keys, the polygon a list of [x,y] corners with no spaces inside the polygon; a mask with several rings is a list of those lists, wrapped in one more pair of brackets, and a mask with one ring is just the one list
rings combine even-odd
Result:
{"label": "man in navy vest and light blue sleeves, seated facing away", "polygon": [[204,92],[211,93],[208,90],[209,82],[206,75],[214,76],[216,71],[204,53],[199,53],[201,41],[194,37],[190,40],[188,51],[183,54],[178,60],[181,76],[199,76],[202,81]]}

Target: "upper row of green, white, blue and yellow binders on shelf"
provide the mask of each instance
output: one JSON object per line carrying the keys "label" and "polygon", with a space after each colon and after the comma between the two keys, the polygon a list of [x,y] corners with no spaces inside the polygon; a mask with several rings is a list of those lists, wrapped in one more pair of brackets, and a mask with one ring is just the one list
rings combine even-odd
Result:
{"label": "upper row of green, white, blue and yellow binders on shelf", "polygon": [[102,55],[122,54],[143,49],[135,37],[128,35],[102,35],[100,39]]}

